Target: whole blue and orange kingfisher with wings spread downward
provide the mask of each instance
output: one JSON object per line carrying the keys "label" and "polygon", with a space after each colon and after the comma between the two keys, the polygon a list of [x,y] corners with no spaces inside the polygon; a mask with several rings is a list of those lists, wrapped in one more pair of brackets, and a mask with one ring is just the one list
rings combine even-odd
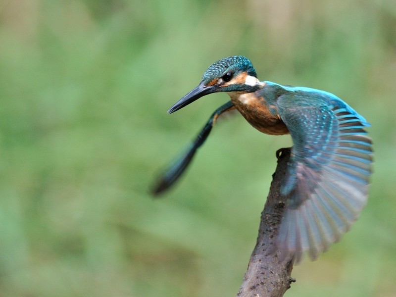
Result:
{"label": "whole blue and orange kingfisher with wings spread downward", "polygon": [[282,259],[315,260],[340,240],[368,197],[372,141],[363,116],[337,96],[307,87],[259,81],[250,60],[230,56],[210,65],[173,113],[212,93],[230,101],[217,108],[186,152],[159,179],[153,194],[171,187],[207,139],[220,115],[237,109],[258,131],[290,134],[293,141],[280,194],[286,197],[275,249]]}

